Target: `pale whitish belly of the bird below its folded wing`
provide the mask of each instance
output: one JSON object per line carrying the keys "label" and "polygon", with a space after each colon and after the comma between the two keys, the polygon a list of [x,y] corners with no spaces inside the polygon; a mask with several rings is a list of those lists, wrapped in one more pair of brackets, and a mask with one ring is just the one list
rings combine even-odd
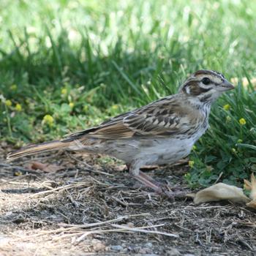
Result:
{"label": "pale whitish belly of the bird below its folded wing", "polygon": [[108,143],[105,153],[124,162],[140,161],[143,165],[161,165],[187,157],[194,143],[192,138],[116,140],[115,143]]}

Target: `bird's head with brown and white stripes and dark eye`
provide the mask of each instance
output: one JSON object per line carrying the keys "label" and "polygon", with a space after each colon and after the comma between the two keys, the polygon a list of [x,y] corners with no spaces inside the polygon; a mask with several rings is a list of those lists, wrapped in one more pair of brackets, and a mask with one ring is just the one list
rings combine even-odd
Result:
{"label": "bird's head with brown and white stripes and dark eye", "polygon": [[223,92],[234,89],[232,83],[221,73],[213,70],[198,70],[187,78],[179,93],[200,102],[214,102]]}

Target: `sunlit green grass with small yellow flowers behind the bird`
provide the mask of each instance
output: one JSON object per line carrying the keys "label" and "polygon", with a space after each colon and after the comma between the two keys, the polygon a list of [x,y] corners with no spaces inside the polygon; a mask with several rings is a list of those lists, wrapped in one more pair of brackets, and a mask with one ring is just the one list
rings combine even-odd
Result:
{"label": "sunlit green grass with small yellow flowers behind the bird", "polygon": [[255,12],[245,0],[2,0],[1,140],[20,146],[86,129],[215,69],[240,83],[214,105],[185,178],[241,182],[256,170],[256,94],[241,86],[256,75]]}

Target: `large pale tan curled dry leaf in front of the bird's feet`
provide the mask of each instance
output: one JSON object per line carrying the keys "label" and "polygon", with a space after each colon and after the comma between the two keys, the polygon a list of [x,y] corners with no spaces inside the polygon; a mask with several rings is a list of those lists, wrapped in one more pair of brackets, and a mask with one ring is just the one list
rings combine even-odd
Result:
{"label": "large pale tan curled dry leaf in front of the bird's feet", "polygon": [[224,183],[218,183],[197,192],[194,198],[194,203],[197,204],[219,200],[230,200],[236,203],[249,202],[249,198],[244,195],[243,189]]}

